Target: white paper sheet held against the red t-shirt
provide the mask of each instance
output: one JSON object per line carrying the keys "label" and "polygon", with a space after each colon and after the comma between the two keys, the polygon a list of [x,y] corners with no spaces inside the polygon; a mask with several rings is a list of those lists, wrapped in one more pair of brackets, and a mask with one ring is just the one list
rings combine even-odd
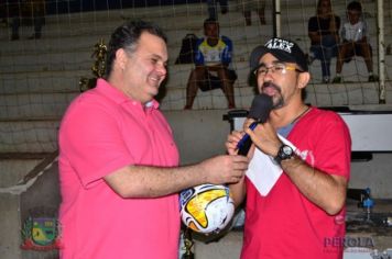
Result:
{"label": "white paper sheet held against the red t-shirt", "polygon": [[[284,144],[291,146],[294,151],[296,150],[296,147],[291,142],[281,135],[277,136]],[[247,177],[261,195],[266,196],[269,194],[282,172],[282,168],[274,161],[273,157],[255,148],[253,158],[248,167]]]}

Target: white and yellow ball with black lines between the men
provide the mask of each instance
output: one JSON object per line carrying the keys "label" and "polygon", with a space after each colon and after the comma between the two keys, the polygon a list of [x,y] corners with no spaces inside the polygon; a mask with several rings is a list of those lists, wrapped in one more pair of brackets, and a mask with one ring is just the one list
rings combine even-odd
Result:
{"label": "white and yellow ball with black lines between the men", "polygon": [[231,221],[235,203],[225,185],[202,184],[179,193],[181,218],[195,232],[219,233]]}

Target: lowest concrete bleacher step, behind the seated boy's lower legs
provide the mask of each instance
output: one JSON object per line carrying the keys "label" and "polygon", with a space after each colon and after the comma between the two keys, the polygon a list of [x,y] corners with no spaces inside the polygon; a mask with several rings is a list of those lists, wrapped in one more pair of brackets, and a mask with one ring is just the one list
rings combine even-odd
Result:
{"label": "lowest concrete bleacher step, behind the seated boy's lower legs", "polygon": [[[188,76],[188,72],[182,74],[184,77]],[[356,75],[357,76],[357,75]],[[351,80],[355,83],[348,83],[352,87],[345,88],[345,91],[356,91],[357,89],[362,89],[363,86],[367,86],[367,78],[363,78],[363,81],[357,79],[356,76],[352,76],[355,80]],[[177,75],[178,77],[178,75]],[[349,77],[345,77],[346,81],[349,81]],[[65,80],[63,80],[65,82]],[[75,81],[75,80],[72,80]],[[176,80],[178,82],[178,80]],[[161,109],[162,110],[181,110],[185,105],[185,97],[186,97],[186,80],[183,83],[167,83],[164,86],[164,90],[166,91],[165,97],[161,100]],[[72,85],[72,83],[69,83]],[[74,85],[75,89],[69,92],[25,92],[19,94],[1,94],[0,103],[2,103],[2,109],[0,110],[0,120],[6,121],[18,121],[18,120],[53,120],[61,119],[62,114],[66,110],[67,105],[72,102],[74,98],[79,94],[77,89],[77,85]],[[311,85],[313,86],[313,85]],[[317,86],[317,83],[316,83]],[[338,88],[340,85],[322,85],[319,89],[328,86],[328,88]],[[337,87],[336,87],[337,86]],[[378,83],[369,83],[374,92],[378,91]],[[248,89],[251,89],[248,91]],[[163,91],[163,89],[162,89]],[[328,90],[328,93],[330,93]],[[195,109],[221,109],[226,108],[226,99],[220,90],[210,91],[207,93],[198,92],[197,98],[203,99],[206,98],[208,100],[207,103],[203,103],[199,106],[195,106]],[[331,91],[333,92],[333,91]],[[361,92],[361,91],[359,91]],[[239,108],[248,106],[251,103],[251,99],[249,97],[253,95],[253,89],[251,87],[247,87],[246,81],[241,81],[239,79],[235,85],[235,93],[236,100]],[[347,102],[337,101],[340,105],[345,104],[356,104],[356,103],[367,103],[366,94],[364,97],[357,97],[357,101],[355,99],[350,99]],[[239,101],[244,99],[244,101]],[[196,99],[198,100],[198,99]],[[315,99],[313,104],[320,104],[320,100]],[[374,103],[374,102],[373,102]]]}

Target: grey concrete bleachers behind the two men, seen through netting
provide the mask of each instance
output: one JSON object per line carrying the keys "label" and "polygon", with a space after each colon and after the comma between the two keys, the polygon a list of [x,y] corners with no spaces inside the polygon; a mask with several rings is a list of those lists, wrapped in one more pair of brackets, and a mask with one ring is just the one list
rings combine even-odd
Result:
{"label": "grey concrete bleachers behind the two men, seen through netting", "polygon": [[[290,4],[290,8],[287,8],[287,4]],[[344,7],[345,2],[337,1],[336,4]],[[364,4],[374,8],[374,3],[370,0],[364,1]],[[314,2],[311,1],[303,1],[302,5],[287,2],[282,9],[287,12],[286,14],[282,13],[282,34],[291,33],[291,35],[298,36],[300,45],[303,45],[304,48],[308,47],[308,40],[306,34],[303,33],[306,30],[306,21],[303,20],[303,16],[304,13],[314,9],[313,5]],[[92,77],[90,67],[94,63],[91,58],[94,45],[99,38],[107,41],[112,27],[117,26],[118,22],[129,18],[142,18],[143,15],[156,18],[155,21],[161,26],[167,26],[168,52],[171,61],[174,61],[178,55],[183,36],[190,29],[197,30],[198,35],[202,34],[200,23],[206,16],[205,8],[205,4],[184,4],[174,9],[173,7],[162,7],[145,10],[126,9],[109,12],[61,14],[47,18],[45,25],[45,30],[48,32],[47,37],[44,36],[40,41],[17,41],[12,44],[7,41],[1,42],[2,63],[0,64],[0,74],[2,80],[0,80],[0,93],[3,97],[1,97],[0,103],[7,103],[7,106],[4,105],[4,109],[2,109],[0,119],[6,120],[7,117],[11,121],[23,120],[23,117],[32,121],[44,120],[44,117],[58,119],[70,100],[79,93],[78,82],[80,78]],[[241,25],[243,18],[238,7],[233,4],[231,8],[226,16],[228,19],[221,19],[221,34],[230,36],[235,42],[233,68],[239,76],[235,85],[236,94],[238,94],[237,105],[247,106],[251,100],[249,100],[249,97],[252,97],[247,90],[250,89],[247,87],[249,53],[270,36],[272,25],[259,26],[258,23],[254,23],[252,26],[243,26]],[[155,12],[157,15],[151,15]],[[288,16],[291,19],[287,19]],[[302,20],[295,19],[300,16]],[[266,18],[271,19],[270,13],[266,13]],[[253,18],[254,20],[257,21],[255,18]],[[287,21],[295,22],[287,23]],[[298,35],[295,35],[296,33]],[[4,32],[1,35],[4,35]],[[392,64],[390,57],[386,57],[385,64]],[[377,61],[374,63],[377,65]],[[363,63],[362,68],[359,69],[364,75],[361,77],[357,76],[357,64],[360,64],[360,61],[345,65],[345,80],[367,80]],[[335,64],[333,63],[333,71],[335,70],[334,67]],[[186,81],[192,68],[193,65],[170,65],[170,80],[166,85],[168,91],[161,105],[163,110],[178,110],[184,106]],[[374,66],[375,70],[377,66]],[[317,65],[317,61],[315,61],[311,66],[311,71],[313,74],[312,82],[319,82],[319,63]],[[386,78],[392,78],[392,76],[386,75]],[[195,109],[226,108],[226,99],[221,91],[214,92],[217,93],[199,92],[199,104],[195,103]],[[42,106],[40,108],[40,105]]]}

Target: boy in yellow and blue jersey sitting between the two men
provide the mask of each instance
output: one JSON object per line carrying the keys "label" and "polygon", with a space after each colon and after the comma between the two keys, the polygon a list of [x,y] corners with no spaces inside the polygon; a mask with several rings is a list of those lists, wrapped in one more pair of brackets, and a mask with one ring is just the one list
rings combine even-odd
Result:
{"label": "boy in yellow and blue jersey sitting between the two men", "polygon": [[196,43],[195,69],[190,71],[186,87],[185,110],[190,110],[197,90],[208,91],[220,88],[228,101],[228,108],[236,108],[233,83],[237,74],[230,68],[232,42],[219,36],[219,23],[214,19],[204,21],[204,34]]}

